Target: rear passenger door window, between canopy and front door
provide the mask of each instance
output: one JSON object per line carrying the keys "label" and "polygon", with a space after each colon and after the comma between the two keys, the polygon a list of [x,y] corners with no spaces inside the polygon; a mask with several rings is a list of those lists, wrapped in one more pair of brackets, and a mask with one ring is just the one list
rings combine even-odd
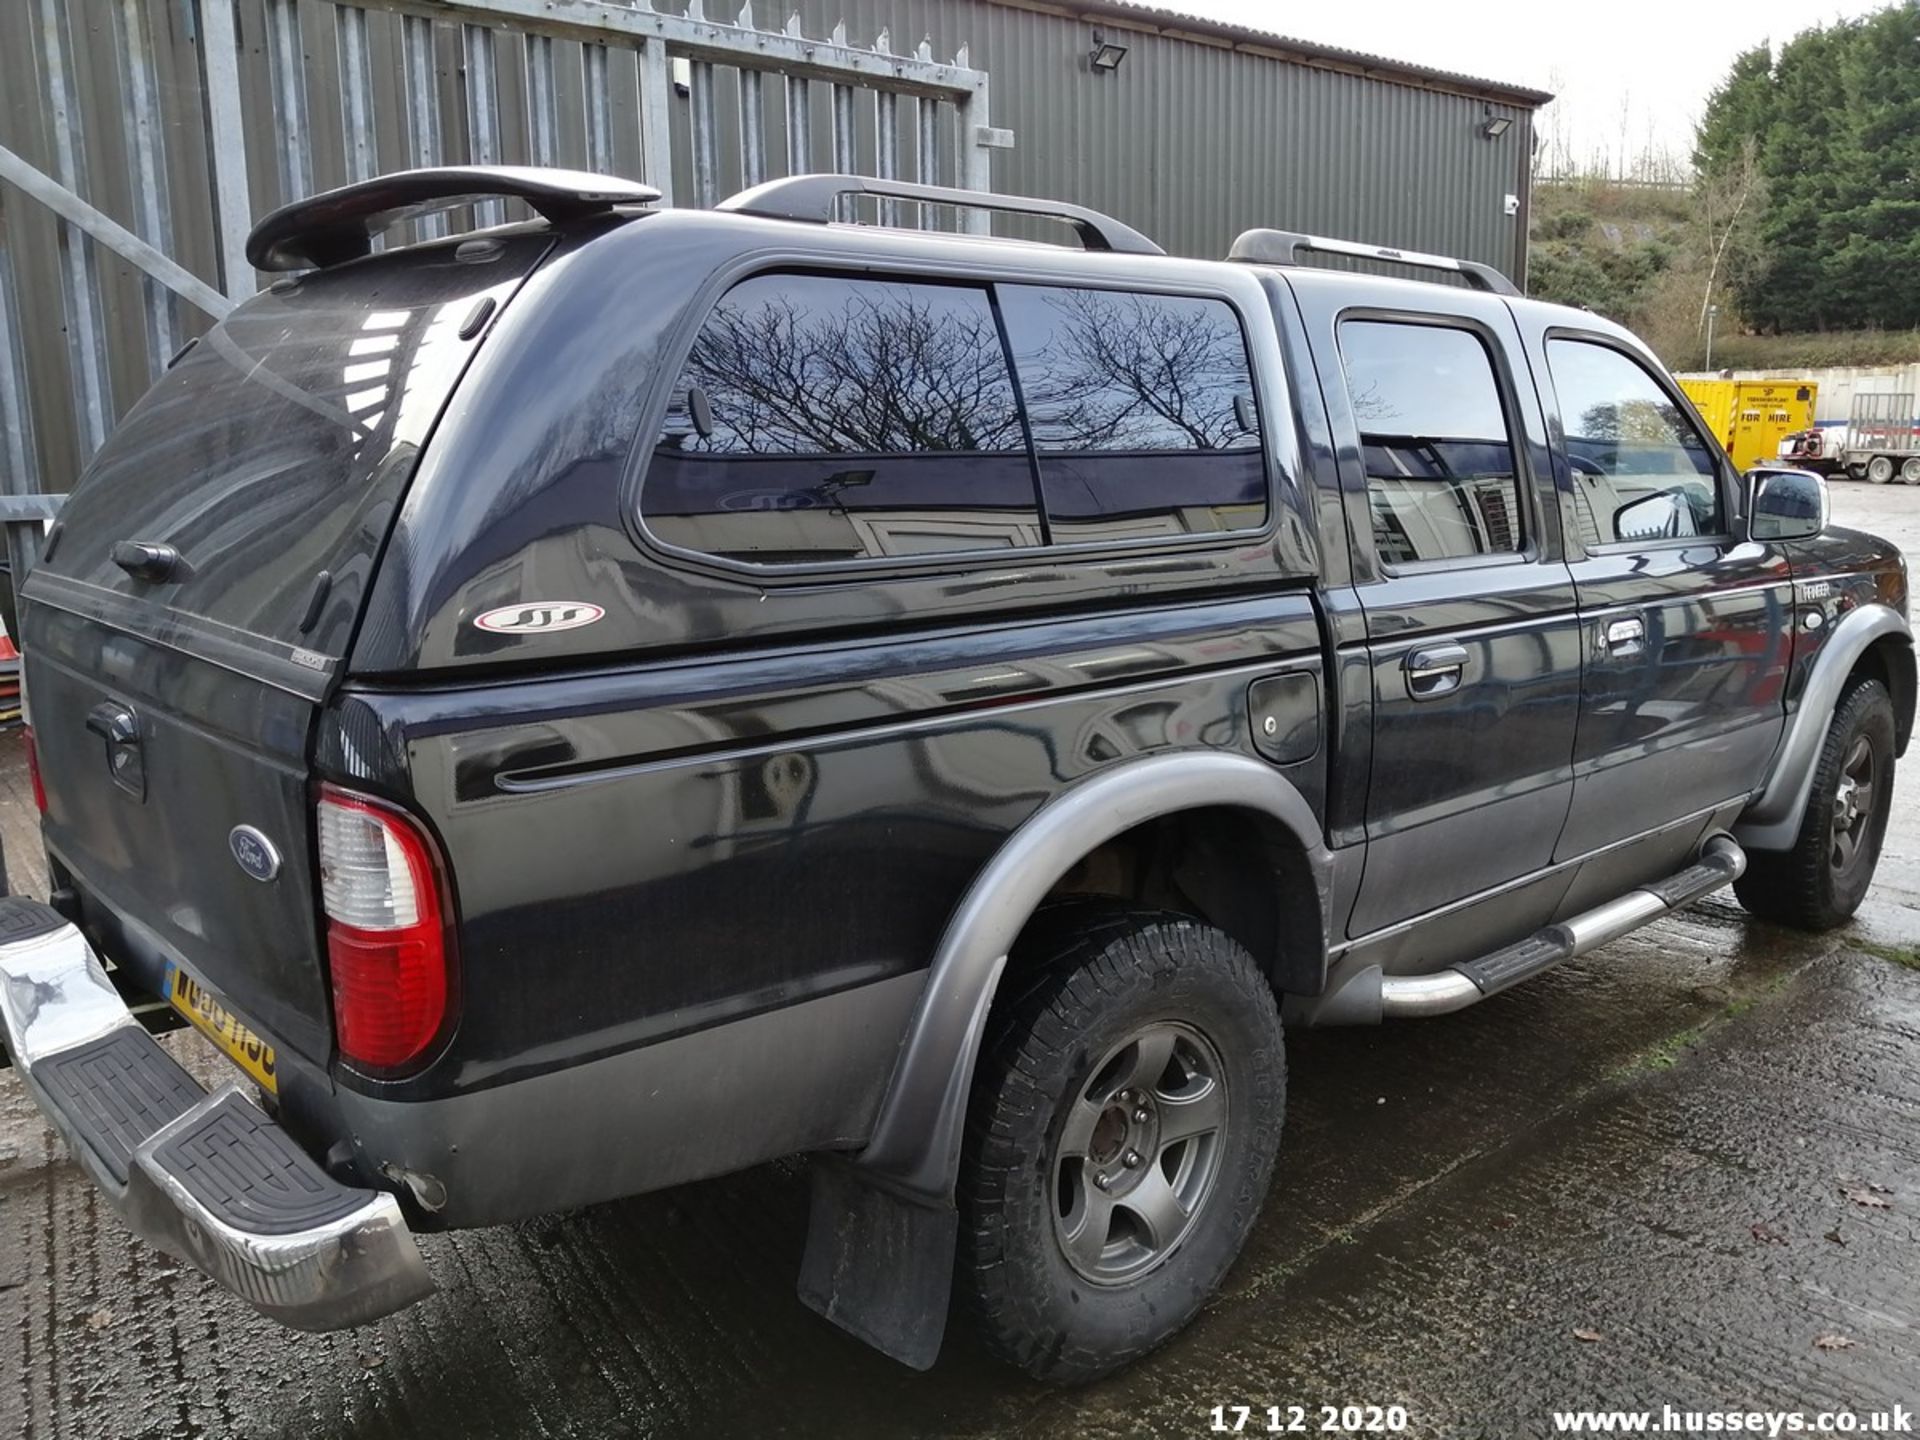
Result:
{"label": "rear passenger door window, between canopy and front door", "polygon": [[1340,359],[1380,559],[1404,564],[1521,549],[1513,440],[1480,338],[1438,324],[1348,321]]}

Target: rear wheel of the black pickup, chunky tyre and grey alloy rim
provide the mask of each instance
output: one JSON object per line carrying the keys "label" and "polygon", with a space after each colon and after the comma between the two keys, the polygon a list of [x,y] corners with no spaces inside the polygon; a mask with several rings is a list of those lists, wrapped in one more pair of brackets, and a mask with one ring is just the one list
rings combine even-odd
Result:
{"label": "rear wheel of the black pickup, chunky tyre and grey alloy rim", "polygon": [[956,1292],[1050,1382],[1139,1359],[1213,1294],[1260,1215],[1286,1100],[1273,989],[1188,916],[1035,918],[975,1069]]}

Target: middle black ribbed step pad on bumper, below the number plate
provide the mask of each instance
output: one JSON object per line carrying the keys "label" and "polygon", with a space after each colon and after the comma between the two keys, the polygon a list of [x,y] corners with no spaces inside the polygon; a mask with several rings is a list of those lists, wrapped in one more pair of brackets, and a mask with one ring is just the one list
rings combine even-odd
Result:
{"label": "middle black ribbed step pad on bumper, below the number plate", "polygon": [[138,1025],[123,1025],[50,1056],[35,1066],[33,1075],[121,1185],[132,1169],[132,1152],[146,1137],[207,1098],[194,1077]]}

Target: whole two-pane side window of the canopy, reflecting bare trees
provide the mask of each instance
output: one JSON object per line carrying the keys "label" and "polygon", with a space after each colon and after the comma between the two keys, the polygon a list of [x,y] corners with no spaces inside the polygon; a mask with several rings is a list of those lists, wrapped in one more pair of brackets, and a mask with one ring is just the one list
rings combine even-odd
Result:
{"label": "whole two-pane side window of the canopy, reflecting bare trees", "polygon": [[756,564],[1258,530],[1246,340],[1217,300],[760,275],[695,336],[641,513]]}

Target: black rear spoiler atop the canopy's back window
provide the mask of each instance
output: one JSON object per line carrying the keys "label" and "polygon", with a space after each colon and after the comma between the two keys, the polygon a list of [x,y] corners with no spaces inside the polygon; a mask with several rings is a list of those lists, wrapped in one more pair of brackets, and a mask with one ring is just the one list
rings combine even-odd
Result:
{"label": "black rear spoiler atop the canopy's back window", "polygon": [[371,253],[372,238],[390,225],[493,198],[524,200],[549,221],[568,221],[645,205],[660,192],[612,175],[532,165],[396,171],[280,205],[248,234],[246,257],[257,271],[344,265]]}

